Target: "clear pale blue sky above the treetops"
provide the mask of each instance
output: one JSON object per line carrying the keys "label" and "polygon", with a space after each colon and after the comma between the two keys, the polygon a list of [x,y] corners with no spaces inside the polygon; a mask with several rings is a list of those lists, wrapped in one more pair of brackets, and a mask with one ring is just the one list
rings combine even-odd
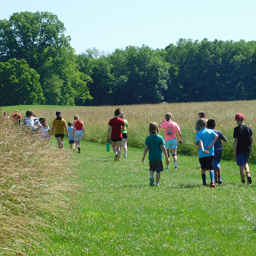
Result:
{"label": "clear pale blue sky above the treetops", "polygon": [[179,38],[256,40],[255,0],[1,0],[0,20],[14,12],[52,12],[76,54],[128,45],[164,48]]}

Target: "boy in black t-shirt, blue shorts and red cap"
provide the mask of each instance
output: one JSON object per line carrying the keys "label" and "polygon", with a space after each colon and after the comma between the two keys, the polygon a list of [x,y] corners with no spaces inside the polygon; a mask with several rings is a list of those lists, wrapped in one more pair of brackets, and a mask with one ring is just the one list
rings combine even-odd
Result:
{"label": "boy in black t-shirt, blue shorts and red cap", "polygon": [[236,158],[236,163],[239,165],[240,176],[242,184],[245,184],[244,170],[246,172],[247,183],[252,183],[252,178],[249,172],[249,165],[247,164],[250,153],[252,151],[253,143],[253,132],[252,129],[244,124],[244,115],[238,113],[235,116],[235,120],[238,124],[234,128],[234,157]]}

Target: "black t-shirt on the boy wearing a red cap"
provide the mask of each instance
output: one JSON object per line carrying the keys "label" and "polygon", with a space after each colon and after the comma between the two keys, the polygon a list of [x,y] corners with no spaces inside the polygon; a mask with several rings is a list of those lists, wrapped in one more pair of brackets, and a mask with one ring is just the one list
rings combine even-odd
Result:
{"label": "black t-shirt on the boy wearing a red cap", "polygon": [[252,151],[251,136],[253,135],[251,127],[246,124],[238,125],[234,128],[233,138],[237,139],[236,154]]}

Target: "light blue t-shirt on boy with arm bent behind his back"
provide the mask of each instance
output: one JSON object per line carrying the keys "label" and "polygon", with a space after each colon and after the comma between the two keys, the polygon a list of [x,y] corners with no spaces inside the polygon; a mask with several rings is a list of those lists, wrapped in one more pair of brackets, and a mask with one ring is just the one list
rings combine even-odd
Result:
{"label": "light blue t-shirt on boy with arm bent behind his back", "polygon": [[[214,145],[212,148],[208,149],[207,146],[210,146],[215,138],[215,132],[211,129],[201,129],[199,132],[196,132],[196,143],[198,143],[199,140],[203,141],[204,150],[209,150],[209,154],[206,154],[202,151],[201,147],[199,146],[198,156],[206,157],[206,156],[214,156]],[[199,145],[199,144],[198,144]]]}

